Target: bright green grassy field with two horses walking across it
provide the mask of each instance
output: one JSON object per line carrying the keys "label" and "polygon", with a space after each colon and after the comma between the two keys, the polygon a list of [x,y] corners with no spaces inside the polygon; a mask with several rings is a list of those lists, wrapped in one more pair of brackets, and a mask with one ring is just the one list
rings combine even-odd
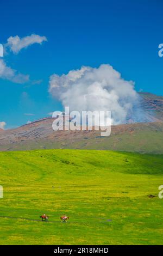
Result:
{"label": "bright green grassy field with two horses walking across it", "polygon": [[[162,184],[162,155],[1,152],[0,244],[163,244]],[[40,221],[44,213],[49,222]]]}

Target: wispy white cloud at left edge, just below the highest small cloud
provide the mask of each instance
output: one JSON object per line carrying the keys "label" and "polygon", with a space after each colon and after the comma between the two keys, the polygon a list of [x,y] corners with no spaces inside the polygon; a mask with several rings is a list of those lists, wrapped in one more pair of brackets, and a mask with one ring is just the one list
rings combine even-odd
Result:
{"label": "wispy white cloud at left edge, just below the highest small cloud", "polygon": [[18,73],[17,70],[7,66],[3,59],[0,59],[0,78],[7,79],[14,83],[25,83],[29,80],[29,75]]}

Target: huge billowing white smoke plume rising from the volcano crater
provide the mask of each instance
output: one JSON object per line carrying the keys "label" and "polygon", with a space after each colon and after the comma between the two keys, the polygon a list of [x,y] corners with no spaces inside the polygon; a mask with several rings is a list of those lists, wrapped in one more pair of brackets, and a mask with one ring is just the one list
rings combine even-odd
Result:
{"label": "huge billowing white smoke plume rising from the volcano crater", "polygon": [[112,124],[126,123],[137,104],[132,81],[125,81],[109,64],[83,66],[67,75],[52,75],[49,92],[70,111],[111,111]]}

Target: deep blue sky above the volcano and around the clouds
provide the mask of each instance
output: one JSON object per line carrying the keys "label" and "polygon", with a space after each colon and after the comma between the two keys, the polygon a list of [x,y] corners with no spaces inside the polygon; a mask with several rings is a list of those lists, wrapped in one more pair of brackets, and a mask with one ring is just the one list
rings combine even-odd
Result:
{"label": "deep blue sky above the volcano and around the clouds", "polygon": [[137,91],[163,95],[162,7],[161,0],[2,0],[1,44],[10,36],[31,34],[47,41],[3,57],[7,66],[30,78],[26,83],[0,78],[0,122],[12,128],[62,109],[48,93],[49,77],[83,65],[108,63],[133,80]]}

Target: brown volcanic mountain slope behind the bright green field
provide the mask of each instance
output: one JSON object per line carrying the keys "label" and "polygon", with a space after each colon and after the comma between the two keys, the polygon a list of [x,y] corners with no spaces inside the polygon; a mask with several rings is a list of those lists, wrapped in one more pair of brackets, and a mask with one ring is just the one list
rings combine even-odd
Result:
{"label": "brown volcanic mountain slope behind the bright green field", "polygon": [[53,131],[54,119],[43,118],[17,129],[1,130],[0,150],[69,148],[161,154],[163,97],[149,93],[140,95],[145,123],[112,126],[111,136],[101,137],[99,131]]}

